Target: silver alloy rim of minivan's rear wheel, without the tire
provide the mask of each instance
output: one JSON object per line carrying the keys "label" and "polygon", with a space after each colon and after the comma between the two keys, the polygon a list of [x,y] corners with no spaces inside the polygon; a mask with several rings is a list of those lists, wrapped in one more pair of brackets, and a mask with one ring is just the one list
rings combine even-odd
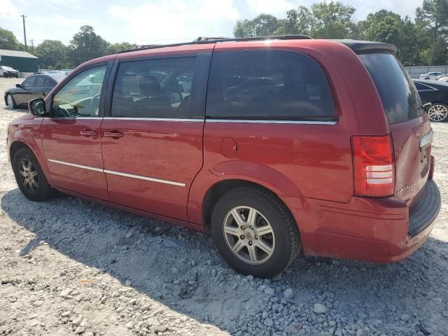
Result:
{"label": "silver alloy rim of minivan's rear wheel, without the tire", "polygon": [[274,230],[265,216],[252,207],[230,210],[224,219],[223,233],[230,251],[248,264],[261,264],[274,254]]}

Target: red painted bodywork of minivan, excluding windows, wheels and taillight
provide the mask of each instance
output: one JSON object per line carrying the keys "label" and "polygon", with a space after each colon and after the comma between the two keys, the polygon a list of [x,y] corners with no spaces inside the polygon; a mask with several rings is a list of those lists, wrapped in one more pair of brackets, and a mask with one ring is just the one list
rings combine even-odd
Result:
{"label": "red painted bodywork of minivan, excluding windows, wheels and taillight", "polygon": [[[141,50],[94,59],[66,80],[85,66],[114,59],[265,48],[303,52],[320,64],[335,100],[336,125],[52,120],[28,115],[10,124],[8,146],[15,141],[27,144],[59,190],[188,228],[206,230],[207,191],[221,181],[239,179],[258,183],[281,198],[297,222],[305,253],[391,262],[415,251],[432,229],[429,225],[419,235],[407,236],[409,207],[418,202],[417,194],[430,174],[430,146],[418,151],[419,139],[430,130],[428,117],[389,126],[369,73],[346,45],[289,40]],[[351,137],[380,135],[392,139],[395,195],[355,197]],[[185,186],[57,165],[48,159]],[[416,185],[398,195],[410,181]]]}

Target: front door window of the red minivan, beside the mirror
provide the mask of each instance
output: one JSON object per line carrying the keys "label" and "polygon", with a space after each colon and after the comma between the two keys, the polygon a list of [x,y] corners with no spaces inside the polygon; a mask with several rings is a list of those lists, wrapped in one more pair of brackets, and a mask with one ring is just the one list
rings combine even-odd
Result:
{"label": "front door window of the red minivan, beside the mirror", "polygon": [[53,97],[53,117],[96,117],[106,66],[98,66],[71,78]]}

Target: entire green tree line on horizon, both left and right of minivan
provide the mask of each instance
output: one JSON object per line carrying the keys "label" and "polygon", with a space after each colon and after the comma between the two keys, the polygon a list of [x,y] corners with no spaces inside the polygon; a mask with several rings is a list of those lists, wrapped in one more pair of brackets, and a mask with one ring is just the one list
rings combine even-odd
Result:
{"label": "entire green tree line on horizon, both left and right of minivan", "polygon": [[[339,1],[322,1],[310,7],[290,9],[286,18],[260,14],[252,20],[239,20],[235,37],[304,34],[313,38],[353,38],[395,44],[398,58],[405,66],[448,64],[448,0],[423,0],[415,19],[402,18],[388,10],[370,13],[365,20],[353,19],[356,9]],[[73,68],[104,55],[136,46],[133,43],[109,43],[83,26],[69,45],[44,40],[28,51],[36,55],[41,69]],[[0,27],[0,49],[25,50],[12,31]]]}

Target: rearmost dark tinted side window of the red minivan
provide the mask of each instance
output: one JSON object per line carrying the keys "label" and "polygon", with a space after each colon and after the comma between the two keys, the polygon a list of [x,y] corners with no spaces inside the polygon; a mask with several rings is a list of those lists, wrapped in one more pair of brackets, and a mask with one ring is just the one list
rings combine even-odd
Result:
{"label": "rearmost dark tinted side window of the red minivan", "polygon": [[337,120],[321,67],[286,50],[214,52],[207,118]]}

